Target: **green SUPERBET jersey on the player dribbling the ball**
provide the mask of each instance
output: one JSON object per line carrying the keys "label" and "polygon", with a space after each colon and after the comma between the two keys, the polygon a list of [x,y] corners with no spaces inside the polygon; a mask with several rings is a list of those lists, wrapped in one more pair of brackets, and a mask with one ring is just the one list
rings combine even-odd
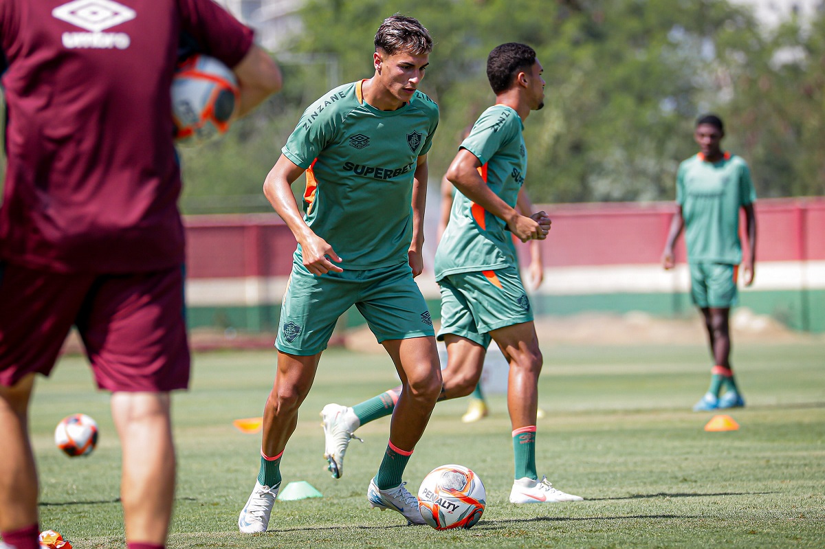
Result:
{"label": "green SUPERBET jersey on the player dribbling the ball", "polygon": [[438,125],[438,106],[422,92],[398,110],[378,110],[364,101],[362,83],[315,101],[281,149],[307,169],[304,220],[341,256],[338,265],[356,270],[408,260],[413,174]]}

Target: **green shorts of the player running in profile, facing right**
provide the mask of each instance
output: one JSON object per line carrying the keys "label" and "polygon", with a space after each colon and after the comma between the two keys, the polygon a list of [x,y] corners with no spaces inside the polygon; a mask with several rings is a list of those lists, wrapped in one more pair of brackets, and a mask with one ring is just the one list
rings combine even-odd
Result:
{"label": "green shorts of the player running in profile, facing right", "polygon": [[441,330],[466,337],[485,348],[489,332],[533,320],[530,299],[516,267],[447,275],[441,288]]}

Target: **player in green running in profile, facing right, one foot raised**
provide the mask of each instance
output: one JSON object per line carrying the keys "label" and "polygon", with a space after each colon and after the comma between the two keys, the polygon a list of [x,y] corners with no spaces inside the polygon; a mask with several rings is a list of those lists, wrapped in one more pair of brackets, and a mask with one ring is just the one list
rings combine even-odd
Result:
{"label": "player in green running in profile, facing right, one foot raised", "polygon": [[[465,397],[478,385],[487,347],[495,340],[510,364],[507,407],[512,421],[515,480],[512,503],[582,500],[541,481],[535,467],[535,419],[542,356],[530,300],[521,284],[516,247],[544,240],[550,220],[544,212],[517,211],[525,181],[527,152],[522,130],[531,110],[544,106],[541,63],[530,46],[500,45],[488,56],[487,75],[496,104],[479,117],[447,171],[460,191],[450,223],[436,251],[441,286],[441,330],[447,367],[441,400]],[[392,413],[391,389],[353,407],[328,404],[322,411],[325,454],[332,476],[341,476],[353,432]],[[395,420],[395,415],[393,417]]]}

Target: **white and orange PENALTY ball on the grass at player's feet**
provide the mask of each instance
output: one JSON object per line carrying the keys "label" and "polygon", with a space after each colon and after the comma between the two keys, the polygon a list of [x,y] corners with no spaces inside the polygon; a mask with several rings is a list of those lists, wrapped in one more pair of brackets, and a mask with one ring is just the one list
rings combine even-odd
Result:
{"label": "white and orange PENALTY ball on the grass at player's feet", "polygon": [[421,516],[436,530],[472,528],[486,504],[481,478],[461,465],[436,467],[418,488]]}

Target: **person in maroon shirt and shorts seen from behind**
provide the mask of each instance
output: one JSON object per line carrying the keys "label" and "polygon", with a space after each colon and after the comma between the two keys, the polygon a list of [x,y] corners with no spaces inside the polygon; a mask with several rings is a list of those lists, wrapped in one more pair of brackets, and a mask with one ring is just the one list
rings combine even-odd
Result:
{"label": "person in maroon shirt and shorts seen from behind", "polygon": [[50,373],[73,324],[97,386],[111,392],[126,545],[164,547],[175,490],[169,392],[189,378],[170,93],[181,34],[233,68],[237,115],[281,87],[252,30],[214,2],[121,2],[103,20],[68,3],[0,2],[3,547],[40,547],[28,408],[35,373]]}

